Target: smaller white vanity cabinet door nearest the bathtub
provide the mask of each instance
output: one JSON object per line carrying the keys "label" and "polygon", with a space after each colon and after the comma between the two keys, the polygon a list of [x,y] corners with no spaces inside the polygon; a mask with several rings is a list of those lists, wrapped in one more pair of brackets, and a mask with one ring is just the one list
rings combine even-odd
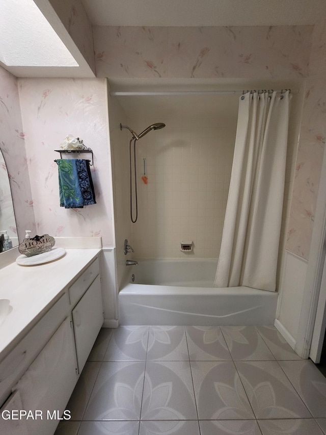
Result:
{"label": "smaller white vanity cabinet door nearest the bathtub", "polygon": [[72,311],[79,373],[103,324],[101,281],[98,275]]}

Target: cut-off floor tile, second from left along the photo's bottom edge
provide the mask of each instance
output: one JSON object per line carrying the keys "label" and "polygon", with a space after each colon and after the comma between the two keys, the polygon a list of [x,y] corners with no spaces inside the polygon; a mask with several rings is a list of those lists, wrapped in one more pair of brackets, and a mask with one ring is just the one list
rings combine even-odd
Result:
{"label": "cut-off floor tile, second from left along the photo's bottom edge", "polygon": [[83,421],[78,435],[138,435],[139,421]]}

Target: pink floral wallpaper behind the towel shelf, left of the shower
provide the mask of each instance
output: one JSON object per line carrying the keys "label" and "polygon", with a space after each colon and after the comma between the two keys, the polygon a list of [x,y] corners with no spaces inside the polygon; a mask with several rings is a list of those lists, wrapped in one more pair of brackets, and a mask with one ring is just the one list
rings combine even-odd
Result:
{"label": "pink floral wallpaper behind the towel shelf, left of the shower", "polygon": [[[111,159],[103,79],[19,79],[24,142],[29,162],[37,231],[53,236],[101,236],[114,245]],[[65,209],[59,204],[55,152],[69,134],[93,149],[91,175],[96,204]]]}

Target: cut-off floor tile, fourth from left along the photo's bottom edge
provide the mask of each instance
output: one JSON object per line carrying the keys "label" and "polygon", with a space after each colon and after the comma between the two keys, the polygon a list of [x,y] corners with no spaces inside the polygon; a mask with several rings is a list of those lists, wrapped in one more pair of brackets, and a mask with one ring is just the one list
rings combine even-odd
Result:
{"label": "cut-off floor tile, fourth from left along the photo's bottom edge", "polygon": [[201,435],[261,435],[256,420],[199,421]]}

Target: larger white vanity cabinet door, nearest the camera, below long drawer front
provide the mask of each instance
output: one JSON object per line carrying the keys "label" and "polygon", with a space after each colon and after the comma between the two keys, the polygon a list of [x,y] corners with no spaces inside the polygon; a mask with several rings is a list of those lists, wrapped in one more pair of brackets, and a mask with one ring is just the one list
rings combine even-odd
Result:
{"label": "larger white vanity cabinet door, nearest the camera, below long drawer front", "polygon": [[22,409],[37,415],[35,419],[26,418],[27,431],[18,433],[54,433],[59,420],[69,417],[62,414],[76,381],[73,332],[66,318],[13,389],[19,392]]}

